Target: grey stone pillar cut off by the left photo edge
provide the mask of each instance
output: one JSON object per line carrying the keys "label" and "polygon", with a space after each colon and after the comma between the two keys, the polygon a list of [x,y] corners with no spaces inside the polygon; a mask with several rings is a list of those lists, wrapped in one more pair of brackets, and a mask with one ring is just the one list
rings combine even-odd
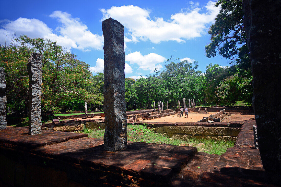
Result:
{"label": "grey stone pillar cut off by the left photo edge", "polygon": [[7,97],[6,97],[6,79],[5,70],[0,67],[0,129],[6,129],[6,108],[7,108]]}

